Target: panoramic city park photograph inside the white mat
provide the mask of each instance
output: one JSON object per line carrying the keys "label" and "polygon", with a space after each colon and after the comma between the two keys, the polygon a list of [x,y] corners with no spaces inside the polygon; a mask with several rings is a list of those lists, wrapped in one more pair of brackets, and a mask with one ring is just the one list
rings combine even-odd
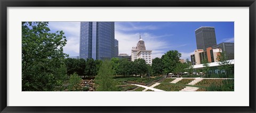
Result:
{"label": "panoramic city park photograph inside the white mat", "polygon": [[22,91],[234,91],[234,22],[22,22]]}

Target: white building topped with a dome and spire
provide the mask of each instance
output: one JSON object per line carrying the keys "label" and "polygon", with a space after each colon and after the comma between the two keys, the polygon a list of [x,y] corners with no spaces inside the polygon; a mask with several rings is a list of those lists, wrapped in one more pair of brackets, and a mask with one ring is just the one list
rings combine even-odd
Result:
{"label": "white building topped with a dome and spire", "polygon": [[141,58],[144,59],[146,64],[152,64],[151,58],[152,50],[146,50],[145,42],[141,39],[138,41],[136,47],[132,47],[132,55],[131,59],[134,61],[135,59]]}

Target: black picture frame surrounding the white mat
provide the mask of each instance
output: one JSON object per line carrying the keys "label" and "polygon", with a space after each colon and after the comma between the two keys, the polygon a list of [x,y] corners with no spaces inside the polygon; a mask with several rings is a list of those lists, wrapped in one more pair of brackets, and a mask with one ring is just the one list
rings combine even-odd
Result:
{"label": "black picture frame surrounding the white mat", "polygon": [[[0,0],[0,111],[1,112],[256,112],[255,110],[255,0]],[[9,107],[7,105],[7,7],[250,7],[249,107]],[[237,97],[242,98],[242,97]]]}

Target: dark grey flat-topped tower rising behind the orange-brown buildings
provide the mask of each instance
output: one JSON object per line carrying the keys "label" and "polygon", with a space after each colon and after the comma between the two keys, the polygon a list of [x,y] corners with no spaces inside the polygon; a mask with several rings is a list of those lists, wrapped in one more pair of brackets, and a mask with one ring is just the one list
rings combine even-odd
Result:
{"label": "dark grey flat-topped tower rising behind the orange-brown buildings", "polygon": [[195,30],[197,49],[204,49],[217,45],[214,27],[201,27]]}

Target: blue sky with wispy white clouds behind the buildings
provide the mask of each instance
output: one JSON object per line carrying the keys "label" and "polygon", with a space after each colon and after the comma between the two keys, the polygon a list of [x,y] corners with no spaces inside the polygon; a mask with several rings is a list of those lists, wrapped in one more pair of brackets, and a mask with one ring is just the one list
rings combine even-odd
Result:
{"label": "blue sky with wispy white clouds behind the buildings", "polygon": [[[79,25],[79,22],[49,22],[52,31],[65,32],[64,52],[69,56],[79,56]],[[178,50],[182,59],[190,59],[196,49],[195,30],[199,27],[215,27],[217,44],[234,42],[234,22],[115,22],[115,39],[119,41],[119,54],[131,55],[141,35],[146,49],[153,50],[153,58]]]}

